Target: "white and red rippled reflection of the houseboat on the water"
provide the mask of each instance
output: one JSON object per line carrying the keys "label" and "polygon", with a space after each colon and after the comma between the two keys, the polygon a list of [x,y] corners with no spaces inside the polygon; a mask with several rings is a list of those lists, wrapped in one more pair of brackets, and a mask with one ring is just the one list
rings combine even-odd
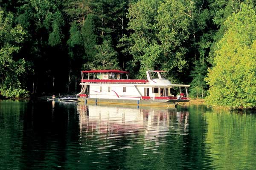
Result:
{"label": "white and red rippled reflection of the houseboat on the water", "polygon": [[[79,103],[81,136],[118,139],[138,135],[144,140],[159,141],[169,134],[186,135],[189,113],[166,108],[136,108],[136,106],[85,105]],[[104,137],[105,136],[105,137]]]}

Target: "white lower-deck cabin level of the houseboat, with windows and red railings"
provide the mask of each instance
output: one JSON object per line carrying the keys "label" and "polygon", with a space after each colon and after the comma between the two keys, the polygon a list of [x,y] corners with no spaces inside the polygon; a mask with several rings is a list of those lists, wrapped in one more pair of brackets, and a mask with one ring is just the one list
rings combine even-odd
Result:
{"label": "white lower-deck cabin level of the houseboat, with windows and red railings", "polygon": [[[122,99],[144,102],[188,102],[189,98],[186,91],[177,94],[172,86],[160,85],[140,85],[140,84],[81,84],[82,90],[80,97],[93,99]],[[180,87],[179,87],[180,88]],[[185,94],[186,93],[186,94]],[[177,95],[175,95],[177,94]]]}

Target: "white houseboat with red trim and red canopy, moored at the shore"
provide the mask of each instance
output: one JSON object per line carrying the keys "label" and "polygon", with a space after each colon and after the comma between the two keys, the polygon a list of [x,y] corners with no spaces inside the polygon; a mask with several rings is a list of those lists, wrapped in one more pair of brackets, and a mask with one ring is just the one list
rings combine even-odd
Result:
{"label": "white houseboat with red trim and red canopy, moored at the shore", "polygon": [[177,102],[189,102],[189,85],[172,84],[164,74],[166,71],[146,71],[147,79],[129,79],[127,71],[82,71],[79,100],[151,106],[175,106]]}

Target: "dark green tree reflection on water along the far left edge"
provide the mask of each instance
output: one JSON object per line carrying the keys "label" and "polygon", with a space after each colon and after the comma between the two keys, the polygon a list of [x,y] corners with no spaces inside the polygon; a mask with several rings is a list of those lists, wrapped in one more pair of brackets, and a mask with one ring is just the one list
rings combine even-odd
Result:
{"label": "dark green tree reflection on water along the far left edge", "polygon": [[23,113],[26,102],[0,101],[0,169],[20,169]]}

